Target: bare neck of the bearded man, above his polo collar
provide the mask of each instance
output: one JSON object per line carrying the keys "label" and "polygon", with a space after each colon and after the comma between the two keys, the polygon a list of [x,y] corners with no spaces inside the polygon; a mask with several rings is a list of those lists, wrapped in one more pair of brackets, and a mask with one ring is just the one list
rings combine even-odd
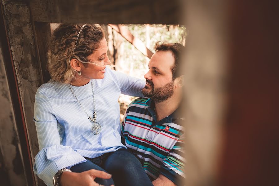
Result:
{"label": "bare neck of the bearded man, above his polo collar", "polygon": [[181,95],[172,95],[169,99],[155,103],[155,112],[157,121],[172,114],[179,106],[181,101]]}

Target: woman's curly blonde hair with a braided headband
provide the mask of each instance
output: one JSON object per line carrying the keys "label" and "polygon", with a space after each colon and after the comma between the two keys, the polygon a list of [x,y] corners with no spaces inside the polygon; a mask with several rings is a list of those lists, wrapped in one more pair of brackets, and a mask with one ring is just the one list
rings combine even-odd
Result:
{"label": "woman's curly blonde hair with a braided headband", "polygon": [[[71,68],[70,60],[76,58],[86,66],[89,63],[86,57],[99,47],[100,41],[105,36],[104,29],[100,25],[86,24],[74,47],[81,27],[80,24],[60,24],[54,30],[47,64],[52,80],[63,83],[71,82],[77,71]],[[75,48],[74,51],[73,48]]]}

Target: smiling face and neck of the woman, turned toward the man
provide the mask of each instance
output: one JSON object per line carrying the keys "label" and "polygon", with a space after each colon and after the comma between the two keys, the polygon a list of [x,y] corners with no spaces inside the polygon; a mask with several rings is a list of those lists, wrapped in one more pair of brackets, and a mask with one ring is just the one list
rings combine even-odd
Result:
{"label": "smiling face and neck of the woman, turned toward the man", "polygon": [[103,79],[105,66],[110,64],[108,59],[108,45],[105,38],[100,41],[99,48],[95,50],[87,59],[92,63],[83,64],[81,67],[82,78],[85,79]]}

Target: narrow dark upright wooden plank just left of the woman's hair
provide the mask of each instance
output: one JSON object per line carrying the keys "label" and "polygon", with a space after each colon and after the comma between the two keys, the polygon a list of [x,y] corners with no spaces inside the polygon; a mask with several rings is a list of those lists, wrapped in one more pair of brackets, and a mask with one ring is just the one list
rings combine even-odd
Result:
{"label": "narrow dark upright wooden plank just left of the woman's hair", "polygon": [[35,42],[37,43],[38,61],[41,65],[42,83],[48,82],[51,77],[47,70],[47,51],[50,44],[51,28],[49,23],[34,22]]}

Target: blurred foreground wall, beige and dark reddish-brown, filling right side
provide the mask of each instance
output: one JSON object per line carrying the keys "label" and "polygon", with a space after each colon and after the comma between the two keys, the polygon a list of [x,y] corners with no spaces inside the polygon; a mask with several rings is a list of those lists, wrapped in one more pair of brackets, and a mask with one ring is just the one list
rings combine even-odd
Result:
{"label": "blurred foreground wall, beige and dark reddish-brown, filling right side", "polygon": [[278,7],[186,2],[188,185],[279,185]]}

